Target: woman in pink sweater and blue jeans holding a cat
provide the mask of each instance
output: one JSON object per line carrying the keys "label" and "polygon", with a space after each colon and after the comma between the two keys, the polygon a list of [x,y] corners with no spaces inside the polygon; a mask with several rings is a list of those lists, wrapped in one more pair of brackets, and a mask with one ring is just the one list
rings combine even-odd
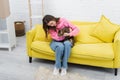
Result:
{"label": "woman in pink sweater and blue jeans holding a cat", "polygon": [[[68,26],[72,31],[70,33],[64,33],[63,36],[58,36],[58,31],[63,29],[65,26]],[[61,69],[61,75],[65,75],[67,73],[67,62],[70,56],[72,43],[69,40],[64,39],[66,36],[76,36],[79,29],[66,19],[56,18],[52,15],[44,16],[43,29],[45,31],[46,38],[48,34],[50,34],[53,39],[50,44],[50,47],[55,52],[56,56],[53,74],[59,74],[59,70]]]}

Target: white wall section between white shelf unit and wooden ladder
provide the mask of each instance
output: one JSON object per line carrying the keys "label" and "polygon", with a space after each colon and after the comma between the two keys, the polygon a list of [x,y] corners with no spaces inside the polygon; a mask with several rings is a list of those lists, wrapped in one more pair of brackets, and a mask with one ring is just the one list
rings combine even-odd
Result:
{"label": "white wall section between white shelf unit and wooden ladder", "polygon": [[26,31],[29,30],[28,0],[9,0],[9,2],[12,20],[26,21],[25,28]]}

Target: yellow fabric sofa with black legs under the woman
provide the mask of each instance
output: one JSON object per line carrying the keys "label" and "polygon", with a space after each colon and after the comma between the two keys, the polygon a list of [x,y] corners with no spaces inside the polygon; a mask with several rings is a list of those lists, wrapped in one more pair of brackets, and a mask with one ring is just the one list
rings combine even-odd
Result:
{"label": "yellow fabric sofa with black legs under the woman", "polygon": [[[80,32],[75,37],[75,46],[71,50],[69,63],[113,68],[117,75],[117,69],[120,68],[120,30],[114,32],[112,42],[105,42],[92,34],[100,22],[72,21],[72,23],[80,29]],[[45,38],[40,24],[27,32],[26,44],[30,63],[32,58],[55,60],[54,52],[49,46],[51,40],[50,36],[48,39]]]}

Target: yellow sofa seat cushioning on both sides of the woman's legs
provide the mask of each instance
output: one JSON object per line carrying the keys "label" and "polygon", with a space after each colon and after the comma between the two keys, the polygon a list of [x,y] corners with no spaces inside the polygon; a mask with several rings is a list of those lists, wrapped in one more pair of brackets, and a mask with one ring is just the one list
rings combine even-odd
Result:
{"label": "yellow sofa seat cushioning on both sides of the woman's legs", "polygon": [[[34,41],[31,48],[39,53],[54,56],[54,51],[50,48],[49,42]],[[43,46],[44,45],[44,46]],[[114,53],[112,43],[79,44],[75,43],[71,56],[76,58],[86,58],[95,60],[113,60]]]}

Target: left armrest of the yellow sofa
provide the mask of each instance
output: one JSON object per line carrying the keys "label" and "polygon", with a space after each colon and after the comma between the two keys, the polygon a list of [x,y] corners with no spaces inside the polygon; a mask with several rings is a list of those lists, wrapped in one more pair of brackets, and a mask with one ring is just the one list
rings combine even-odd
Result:
{"label": "left armrest of the yellow sofa", "polygon": [[31,54],[31,44],[32,44],[32,42],[34,40],[35,33],[36,33],[35,28],[32,29],[32,30],[29,30],[26,33],[26,47],[27,47],[28,56],[32,56],[32,54]]}

